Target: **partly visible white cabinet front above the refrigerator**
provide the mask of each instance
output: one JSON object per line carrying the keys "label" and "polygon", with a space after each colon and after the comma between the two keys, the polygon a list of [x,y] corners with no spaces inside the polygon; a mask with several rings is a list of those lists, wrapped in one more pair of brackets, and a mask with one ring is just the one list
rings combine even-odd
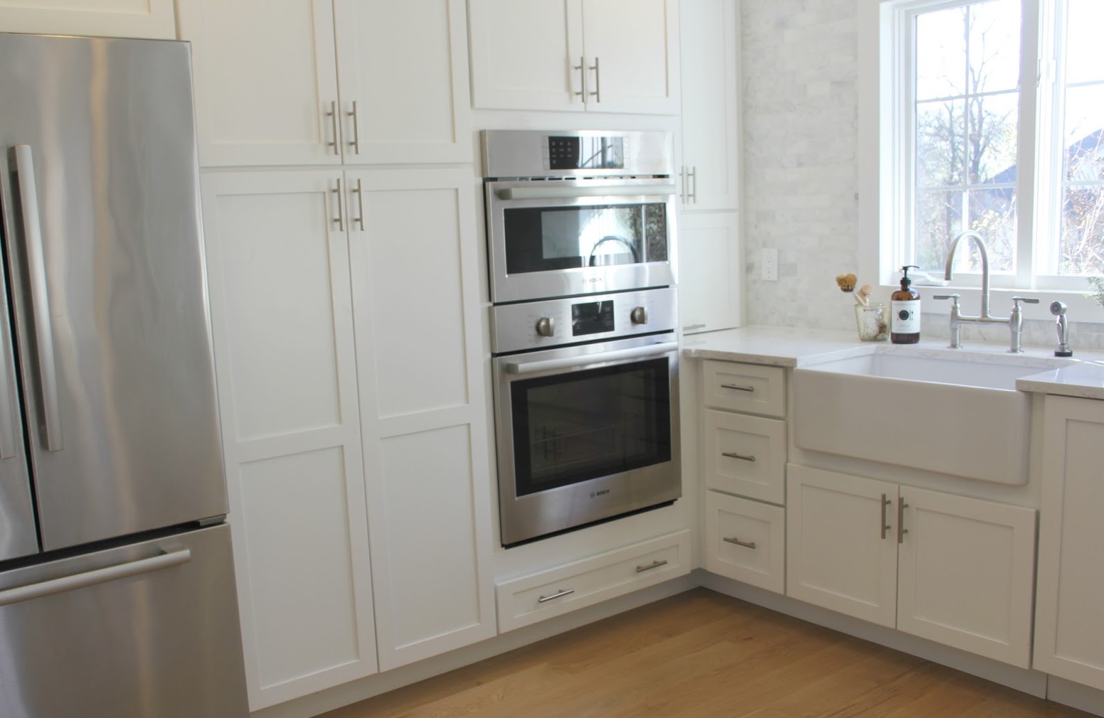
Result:
{"label": "partly visible white cabinet front above the refrigerator", "polygon": [[0,0],[3,32],[176,40],[172,0]]}

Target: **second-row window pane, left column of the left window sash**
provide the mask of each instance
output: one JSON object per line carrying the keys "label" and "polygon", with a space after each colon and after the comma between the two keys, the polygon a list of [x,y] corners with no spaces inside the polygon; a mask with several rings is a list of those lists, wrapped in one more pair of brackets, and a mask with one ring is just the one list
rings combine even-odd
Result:
{"label": "second-row window pane, left column of the left window sash", "polygon": [[966,163],[966,101],[944,100],[916,106],[916,184],[919,187],[960,184]]}

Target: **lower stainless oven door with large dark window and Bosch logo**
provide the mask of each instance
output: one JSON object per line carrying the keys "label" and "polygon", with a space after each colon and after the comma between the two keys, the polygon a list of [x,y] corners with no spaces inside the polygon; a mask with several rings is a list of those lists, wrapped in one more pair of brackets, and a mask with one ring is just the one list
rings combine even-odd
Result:
{"label": "lower stainless oven door with large dark window and Bosch logo", "polygon": [[502,545],[682,495],[673,334],[495,360]]}

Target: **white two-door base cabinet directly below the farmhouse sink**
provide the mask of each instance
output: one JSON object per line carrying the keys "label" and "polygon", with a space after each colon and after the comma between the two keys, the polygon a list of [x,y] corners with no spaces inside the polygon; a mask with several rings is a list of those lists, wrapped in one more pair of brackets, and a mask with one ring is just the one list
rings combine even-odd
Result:
{"label": "white two-door base cabinet directly below the farmhouse sink", "polygon": [[1036,512],[787,467],[786,593],[1022,668]]}

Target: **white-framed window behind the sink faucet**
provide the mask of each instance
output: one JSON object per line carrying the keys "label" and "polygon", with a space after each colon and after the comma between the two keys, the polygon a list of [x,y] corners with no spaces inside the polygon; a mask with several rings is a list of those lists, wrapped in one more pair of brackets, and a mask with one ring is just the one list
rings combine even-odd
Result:
{"label": "white-framed window behind the sink faucet", "polygon": [[[1104,2],[878,11],[882,283],[906,264],[942,275],[966,229],[985,238],[994,287],[1080,289],[1104,274]],[[979,271],[973,251],[956,277]]]}

